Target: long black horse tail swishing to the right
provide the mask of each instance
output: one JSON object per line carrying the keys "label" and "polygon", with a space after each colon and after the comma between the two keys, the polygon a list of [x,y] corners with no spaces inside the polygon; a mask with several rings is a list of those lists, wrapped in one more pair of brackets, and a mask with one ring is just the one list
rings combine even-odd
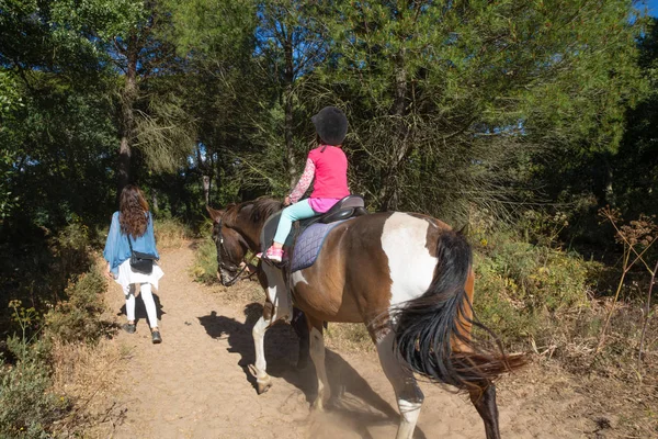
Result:
{"label": "long black horse tail swishing to the right", "polygon": [[[494,333],[475,318],[465,291],[473,250],[464,235],[455,230],[441,234],[436,257],[428,291],[392,313],[395,350],[413,372],[431,381],[481,390],[500,374],[523,365],[525,357],[507,356]],[[499,352],[479,349],[472,328],[490,334]]]}

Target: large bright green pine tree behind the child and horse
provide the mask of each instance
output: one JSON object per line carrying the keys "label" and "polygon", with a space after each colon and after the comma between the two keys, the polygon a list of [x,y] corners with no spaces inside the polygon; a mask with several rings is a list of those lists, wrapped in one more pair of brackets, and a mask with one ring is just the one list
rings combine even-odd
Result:
{"label": "large bright green pine tree behind the child and horse", "polygon": [[344,1],[332,15],[322,80],[384,210],[523,200],[537,157],[614,150],[644,87],[626,0]]}

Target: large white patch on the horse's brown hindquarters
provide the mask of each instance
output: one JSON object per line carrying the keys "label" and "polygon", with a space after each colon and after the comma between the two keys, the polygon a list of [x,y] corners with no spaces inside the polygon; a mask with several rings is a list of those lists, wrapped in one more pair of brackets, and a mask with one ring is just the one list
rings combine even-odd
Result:
{"label": "large white patch on the horse's brown hindquarters", "polygon": [[384,223],[382,249],[388,257],[390,306],[421,296],[432,283],[438,259],[426,247],[430,226],[399,212]]}

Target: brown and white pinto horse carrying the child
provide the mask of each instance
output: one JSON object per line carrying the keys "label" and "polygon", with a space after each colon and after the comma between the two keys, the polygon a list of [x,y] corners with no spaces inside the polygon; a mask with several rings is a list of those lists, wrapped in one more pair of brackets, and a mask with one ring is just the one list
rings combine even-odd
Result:
{"label": "brown and white pinto horse carrying the child", "polygon": [[[281,209],[272,199],[208,207],[222,283],[235,279],[247,250],[260,251],[263,225]],[[473,340],[472,327],[485,327],[473,317],[472,249],[461,233],[426,215],[375,213],[331,229],[315,263],[293,272],[290,282],[270,263],[261,261],[260,268],[266,301],[253,327],[256,363],[250,365],[259,394],[272,385],[265,331],[279,319],[290,320],[294,304],[306,314],[310,333],[318,375],[314,408],[322,409],[330,397],[324,323],[364,323],[395,390],[401,414],[397,439],[412,437],[423,402],[415,373],[468,392],[487,439],[500,438],[494,380],[521,367],[524,358],[502,349],[485,352]]]}

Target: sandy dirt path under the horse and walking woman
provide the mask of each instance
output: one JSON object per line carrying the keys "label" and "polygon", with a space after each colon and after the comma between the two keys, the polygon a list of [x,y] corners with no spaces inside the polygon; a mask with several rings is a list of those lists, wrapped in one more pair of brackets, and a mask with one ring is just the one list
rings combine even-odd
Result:
{"label": "sandy dirt path under the horse and walking woman", "polygon": [[[257,395],[245,365],[253,361],[251,326],[260,304],[225,303],[220,294],[192,282],[188,270],[193,250],[164,251],[166,273],[158,292],[162,345],[151,345],[146,313],[137,299],[137,333],[121,333],[112,342],[131,354],[125,385],[114,395],[125,409],[114,438],[394,438],[397,408],[393,390],[374,354],[327,351],[331,386],[341,396],[325,414],[309,415],[316,391],[313,367],[297,371],[296,337],[287,325],[265,338],[274,386]],[[107,293],[117,314],[123,295]],[[123,315],[117,319],[123,322]],[[536,376],[536,374],[532,374]],[[586,396],[557,379],[527,373],[499,385],[506,438],[578,438],[597,436],[595,424],[572,408]],[[426,404],[417,438],[484,438],[484,427],[464,396],[423,385]],[[572,417],[569,417],[569,414]],[[591,435],[590,435],[591,432]]]}

